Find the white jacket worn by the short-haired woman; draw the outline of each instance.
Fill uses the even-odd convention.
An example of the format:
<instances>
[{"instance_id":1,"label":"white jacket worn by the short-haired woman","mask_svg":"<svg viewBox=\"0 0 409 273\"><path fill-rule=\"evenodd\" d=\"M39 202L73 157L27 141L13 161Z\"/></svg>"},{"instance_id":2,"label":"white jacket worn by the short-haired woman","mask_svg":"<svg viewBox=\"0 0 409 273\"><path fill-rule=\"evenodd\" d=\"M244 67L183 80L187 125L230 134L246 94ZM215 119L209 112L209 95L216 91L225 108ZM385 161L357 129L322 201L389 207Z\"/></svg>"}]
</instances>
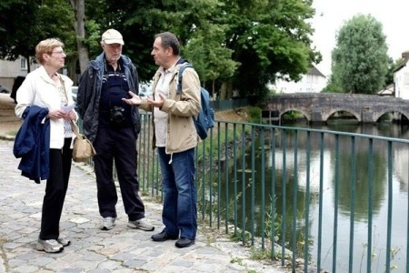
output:
<instances>
[{"instance_id":1,"label":"white jacket worn by the short-haired woman","mask_svg":"<svg viewBox=\"0 0 409 273\"><path fill-rule=\"evenodd\" d=\"M74 100L71 95L73 81L67 76L59 76L61 76L65 86L68 105L73 105ZM48 110L61 108L61 98L58 87L50 76L48 76L44 66L38 67L25 77L25 81L17 90L16 99L17 106L15 106L15 115L20 118L22 118L27 106L46 107ZM51 119L50 148L62 148L64 146L64 137L64 119Z\"/></svg>"}]
</instances>

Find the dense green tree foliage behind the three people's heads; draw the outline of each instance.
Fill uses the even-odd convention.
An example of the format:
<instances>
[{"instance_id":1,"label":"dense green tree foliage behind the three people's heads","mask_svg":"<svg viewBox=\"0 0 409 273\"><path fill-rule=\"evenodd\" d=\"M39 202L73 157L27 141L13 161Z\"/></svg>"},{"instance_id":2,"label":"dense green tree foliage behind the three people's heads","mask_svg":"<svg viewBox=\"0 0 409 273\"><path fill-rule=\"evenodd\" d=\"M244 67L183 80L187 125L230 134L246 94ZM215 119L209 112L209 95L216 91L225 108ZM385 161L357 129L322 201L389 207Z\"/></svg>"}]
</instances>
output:
<instances>
[{"instance_id":1,"label":"dense green tree foliage behind the three people's heads","mask_svg":"<svg viewBox=\"0 0 409 273\"><path fill-rule=\"evenodd\" d=\"M76 0L79 6L83 0ZM4 0L0 4L0 57L34 56L39 40L58 36L75 54L75 16L66 0ZM74 2L73 2L74 3ZM102 33L124 35L124 54L138 66L141 81L157 69L151 56L154 35L174 32L182 55L192 62L202 85L224 96L263 100L266 84L280 73L299 79L319 53L311 48L312 0L87 0L85 40L89 57L101 53ZM9 14L15 15L14 20ZM72 64L75 64L73 61ZM209 87L211 85L211 87Z\"/></svg>"}]
</instances>

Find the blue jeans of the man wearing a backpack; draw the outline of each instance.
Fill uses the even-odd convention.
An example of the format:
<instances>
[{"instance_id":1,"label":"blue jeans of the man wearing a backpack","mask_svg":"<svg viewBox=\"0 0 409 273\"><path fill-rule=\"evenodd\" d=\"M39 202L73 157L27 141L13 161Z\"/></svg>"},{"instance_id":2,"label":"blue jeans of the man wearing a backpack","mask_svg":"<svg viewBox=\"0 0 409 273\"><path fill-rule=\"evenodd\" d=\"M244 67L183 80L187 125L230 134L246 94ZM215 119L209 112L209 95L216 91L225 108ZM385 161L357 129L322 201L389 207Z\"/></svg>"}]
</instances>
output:
<instances>
[{"instance_id":1,"label":"blue jeans of the man wearing a backpack","mask_svg":"<svg viewBox=\"0 0 409 273\"><path fill-rule=\"evenodd\" d=\"M165 147L158 147L158 155L165 194L162 212L164 231L170 235L178 235L180 232L180 238L195 240L197 229L195 148L166 155Z\"/></svg>"}]
</instances>

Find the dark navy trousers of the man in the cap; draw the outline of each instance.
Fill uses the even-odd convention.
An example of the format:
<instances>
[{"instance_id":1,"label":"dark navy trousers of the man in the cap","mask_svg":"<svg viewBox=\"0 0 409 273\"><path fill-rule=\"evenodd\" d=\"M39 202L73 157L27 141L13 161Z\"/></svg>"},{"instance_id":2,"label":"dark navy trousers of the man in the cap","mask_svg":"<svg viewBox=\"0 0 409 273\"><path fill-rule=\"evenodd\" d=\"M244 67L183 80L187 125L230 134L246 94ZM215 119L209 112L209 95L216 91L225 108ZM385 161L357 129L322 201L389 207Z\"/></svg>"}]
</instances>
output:
<instances>
[{"instance_id":1,"label":"dark navy trousers of the man in the cap","mask_svg":"<svg viewBox=\"0 0 409 273\"><path fill-rule=\"evenodd\" d=\"M95 176L99 213L102 217L117 217L118 201L113 178L114 160L125 213L134 221L145 217L145 206L139 196L136 175L136 134L132 127L100 126L95 138Z\"/></svg>"}]
</instances>

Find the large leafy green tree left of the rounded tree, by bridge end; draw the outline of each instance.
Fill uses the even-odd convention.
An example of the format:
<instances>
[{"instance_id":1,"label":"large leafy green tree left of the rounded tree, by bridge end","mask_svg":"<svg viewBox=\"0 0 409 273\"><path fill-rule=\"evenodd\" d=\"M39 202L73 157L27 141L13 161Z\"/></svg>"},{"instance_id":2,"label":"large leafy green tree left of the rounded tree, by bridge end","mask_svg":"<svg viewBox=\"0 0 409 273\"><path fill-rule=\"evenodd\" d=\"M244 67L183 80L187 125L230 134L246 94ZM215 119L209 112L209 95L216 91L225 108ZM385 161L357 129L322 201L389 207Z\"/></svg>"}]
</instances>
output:
<instances>
[{"instance_id":1,"label":"large leafy green tree left of the rounded tree, by bridge end","mask_svg":"<svg viewBox=\"0 0 409 273\"><path fill-rule=\"evenodd\" d=\"M279 73L298 80L321 55L311 48L313 29L308 19L314 15L313 1L224 1L224 24L228 48L239 62L229 90L259 101L268 94L266 84Z\"/></svg>"}]
</instances>

